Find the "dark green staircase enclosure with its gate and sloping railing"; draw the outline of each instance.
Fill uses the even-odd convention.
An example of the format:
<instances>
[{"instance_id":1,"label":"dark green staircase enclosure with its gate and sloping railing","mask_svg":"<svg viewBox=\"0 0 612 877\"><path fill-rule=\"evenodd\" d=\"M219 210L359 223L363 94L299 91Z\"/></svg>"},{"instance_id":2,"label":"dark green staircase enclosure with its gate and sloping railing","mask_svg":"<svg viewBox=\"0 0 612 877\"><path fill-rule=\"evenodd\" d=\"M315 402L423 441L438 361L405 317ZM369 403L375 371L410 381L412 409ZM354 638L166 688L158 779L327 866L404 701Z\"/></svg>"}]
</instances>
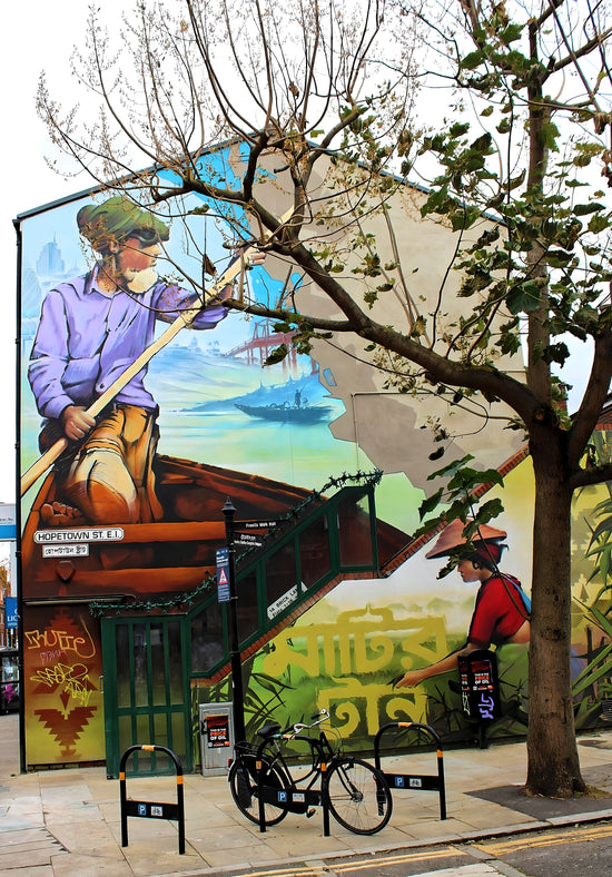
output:
<instances>
[{"instance_id":1,"label":"dark green staircase enclosure with its gate and sloping railing","mask_svg":"<svg viewBox=\"0 0 612 877\"><path fill-rule=\"evenodd\" d=\"M265 643L334 579L378 570L375 480L322 494L278 521L258 546L236 545L236 612L243 654ZM239 532L239 523L236 531ZM238 538L239 541L239 538ZM229 671L227 603L216 582L197 592L129 604L96 603L101 615L107 771L128 746L169 746L186 758L193 716L189 680ZM164 772L152 759L139 772ZM166 766L166 769L168 766Z\"/></svg>"}]
</instances>

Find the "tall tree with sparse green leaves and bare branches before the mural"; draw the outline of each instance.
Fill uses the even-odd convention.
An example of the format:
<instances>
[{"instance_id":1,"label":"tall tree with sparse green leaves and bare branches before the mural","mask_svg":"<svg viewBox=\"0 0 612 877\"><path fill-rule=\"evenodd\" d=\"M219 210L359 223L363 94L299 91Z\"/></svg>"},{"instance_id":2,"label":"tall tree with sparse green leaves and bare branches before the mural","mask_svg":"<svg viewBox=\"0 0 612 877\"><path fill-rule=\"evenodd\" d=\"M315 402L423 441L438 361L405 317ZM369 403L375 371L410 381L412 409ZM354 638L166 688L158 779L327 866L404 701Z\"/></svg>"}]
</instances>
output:
<instances>
[{"instance_id":1,"label":"tall tree with sparse green leaves and bare branches before the mural","mask_svg":"<svg viewBox=\"0 0 612 877\"><path fill-rule=\"evenodd\" d=\"M193 194L198 210L223 213L234 244L255 240L286 277L274 300L239 287L229 306L292 329L299 351L351 337L389 385L501 412L527 437L527 790L583 791L570 506L576 487L612 479L610 460L588 453L612 376L605 6L138 0L116 38L97 14L75 70L87 112L97 100L99 114L63 110L43 79L38 96L77 167L166 217ZM443 109L428 91L436 83L450 92ZM209 161L219 141L224 171ZM425 189L409 185L418 175ZM434 226L452 242L432 254L433 295L411 276L399 234L408 220L422 246ZM566 414L555 372L569 362L569 335L591 366ZM443 447L447 426L437 430ZM478 476L462 472L442 474L464 491ZM445 491L427 508L452 500ZM467 505L456 500L446 514L466 520Z\"/></svg>"}]
</instances>

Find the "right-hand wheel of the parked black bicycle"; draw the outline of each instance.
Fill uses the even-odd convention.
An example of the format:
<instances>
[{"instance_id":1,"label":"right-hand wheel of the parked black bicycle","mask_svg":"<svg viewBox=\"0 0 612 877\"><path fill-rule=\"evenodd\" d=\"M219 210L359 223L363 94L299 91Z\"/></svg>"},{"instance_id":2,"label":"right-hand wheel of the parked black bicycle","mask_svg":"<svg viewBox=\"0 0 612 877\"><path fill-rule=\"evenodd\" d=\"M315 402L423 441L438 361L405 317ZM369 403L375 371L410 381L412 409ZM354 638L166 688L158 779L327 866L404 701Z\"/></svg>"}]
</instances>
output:
<instances>
[{"instance_id":1,"label":"right-hand wheel of the parked black bicycle","mask_svg":"<svg viewBox=\"0 0 612 877\"><path fill-rule=\"evenodd\" d=\"M334 818L356 835L374 835L391 818L393 801L379 770L361 758L336 761L327 777Z\"/></svg>"}]
</instances>

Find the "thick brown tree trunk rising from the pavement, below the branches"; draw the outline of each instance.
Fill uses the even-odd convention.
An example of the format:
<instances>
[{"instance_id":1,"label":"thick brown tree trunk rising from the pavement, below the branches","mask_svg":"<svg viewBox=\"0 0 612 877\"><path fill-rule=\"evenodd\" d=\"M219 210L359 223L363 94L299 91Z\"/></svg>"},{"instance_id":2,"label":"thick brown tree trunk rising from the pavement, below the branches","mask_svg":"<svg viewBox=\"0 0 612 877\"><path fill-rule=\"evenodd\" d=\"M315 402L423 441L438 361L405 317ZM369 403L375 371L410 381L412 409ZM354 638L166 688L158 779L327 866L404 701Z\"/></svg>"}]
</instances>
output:
<instances>
[{"instance_id":1,"label":"thick brown tree trunk rising from the pavement, below the branches","mask_svg":"<svg viewBox=\"0 0 612 877\"><path fill-rule=\"evenodd\" d=\"M540 433L539 435L534 433ZM563 434L532 431L535 475L527 784L532 795L584 791L571 692L571 502Z\"/></svg>"}]
</instances>

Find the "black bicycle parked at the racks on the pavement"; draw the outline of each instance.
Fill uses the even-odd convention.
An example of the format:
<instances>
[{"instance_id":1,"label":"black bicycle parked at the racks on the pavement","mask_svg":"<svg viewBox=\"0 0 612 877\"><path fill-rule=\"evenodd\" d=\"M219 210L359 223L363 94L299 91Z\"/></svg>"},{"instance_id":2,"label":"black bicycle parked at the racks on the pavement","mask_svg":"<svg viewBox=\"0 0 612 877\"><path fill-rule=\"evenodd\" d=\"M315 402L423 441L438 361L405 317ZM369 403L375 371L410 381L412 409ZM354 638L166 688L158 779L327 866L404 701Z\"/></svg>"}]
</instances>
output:
<instances>
[{"instance_id":1,"label":"black bicycle parked at the racks on the pavement","mask_svg":"<svg viewBox=\"0 0 612 877\"><path fill-rule=\"evenodd\" d=\"M264 798L265 826L277 825L288 812L312 816L309 806L327 805L344 828L357 835L381 831L391 818L392 795L381 770L368 761L343 751L336 733L336 747L319 726L329 718L327 710L312 717L313 722L297 722L280 730L278 722L268 722L257 731L261 738L256 748L241 742L236 747L228 781L238 809L260 825L259 792ZM319 728L316 737L303 733ZM306 743L308 762L305 772L295 776L282 751L282 743ZM318 788L317 784L320 781ZM299 786L299 788L298 788ZM261 829L264 830L264 829Z\"/></svg>"}]
</instances>

